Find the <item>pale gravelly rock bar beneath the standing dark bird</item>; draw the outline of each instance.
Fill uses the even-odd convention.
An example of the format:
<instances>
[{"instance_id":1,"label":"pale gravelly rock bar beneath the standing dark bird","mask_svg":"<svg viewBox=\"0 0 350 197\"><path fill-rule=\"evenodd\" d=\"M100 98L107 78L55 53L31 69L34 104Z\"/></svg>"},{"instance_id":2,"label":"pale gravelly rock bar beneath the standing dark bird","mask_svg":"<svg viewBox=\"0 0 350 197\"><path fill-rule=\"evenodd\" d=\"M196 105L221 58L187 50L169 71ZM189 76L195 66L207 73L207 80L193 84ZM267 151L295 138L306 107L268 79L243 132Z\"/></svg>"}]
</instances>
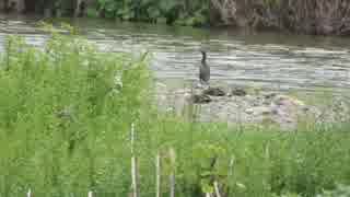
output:
<instances>
[{"instance_id":1,"label":"pale gravelly rock bar beneath the standing dark bird","mask_svg":"<svg viewBox=\"0 0 350 197\"><path fill-rule=\"evenodd\" d=\"M350 112L343 97L335 97L328 104L311 105L279 92L249 92L240 88L171 90L162 83L158 83L156 92L162 109L199 121L231 125L278 125L290 130L302 123L347 121Z\"/></svg>"}]
</instances>

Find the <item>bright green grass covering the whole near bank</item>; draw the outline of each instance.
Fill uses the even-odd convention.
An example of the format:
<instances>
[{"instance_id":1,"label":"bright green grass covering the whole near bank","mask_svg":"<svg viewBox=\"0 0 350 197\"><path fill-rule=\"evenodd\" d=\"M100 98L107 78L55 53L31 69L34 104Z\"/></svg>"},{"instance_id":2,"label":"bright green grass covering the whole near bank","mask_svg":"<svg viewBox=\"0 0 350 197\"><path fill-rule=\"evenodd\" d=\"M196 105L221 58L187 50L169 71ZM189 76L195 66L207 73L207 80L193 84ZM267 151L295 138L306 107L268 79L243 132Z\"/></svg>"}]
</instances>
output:
<instances>
[{"instance_id":1,"label":"bright green grass covering the whole near bank","mask_svg":"<svg viewBox=\"0 0 350 197\"><path fill-rule=\"evenodd\" d=\"M346 126L295 132L188 123L159 114L147 58L98 53L56 33L45 48L10 37L0 60L0 195L128 196L130 125L136 125L141 196L162 192L175 171L176 196L315 196L350 184ZM167 157L176 153L175 164Z\"/></svg>"}]
</instances>

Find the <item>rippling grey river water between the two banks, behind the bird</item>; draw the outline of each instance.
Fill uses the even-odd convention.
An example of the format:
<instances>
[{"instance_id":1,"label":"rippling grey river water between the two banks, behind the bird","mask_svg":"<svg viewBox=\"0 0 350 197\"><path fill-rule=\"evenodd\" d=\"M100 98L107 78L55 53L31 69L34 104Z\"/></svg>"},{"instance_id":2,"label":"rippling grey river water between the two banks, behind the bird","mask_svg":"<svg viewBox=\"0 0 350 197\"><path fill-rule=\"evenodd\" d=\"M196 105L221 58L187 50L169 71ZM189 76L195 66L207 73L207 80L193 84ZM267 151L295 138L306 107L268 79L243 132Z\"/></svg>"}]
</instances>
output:
<instances>
[{"instance_id":1,"label":"rippling grey river water between the two banks, behind the bird","mask_svg":"<svg viewBox=\"0 0 350 197\"><path fill-rule=\"evenodd\" d=\"M7 35L20 34L40 46L47 35L37 19L0 15L0 46ZM105 20L71 21L104 49L153 54L159 80L197 80L199 50L206 49L211 79L229 85L334 92L350 88L350 38L277 33L200 30ZM3 51L0 47L0 51Z\"/></svg>"}]
</instances>

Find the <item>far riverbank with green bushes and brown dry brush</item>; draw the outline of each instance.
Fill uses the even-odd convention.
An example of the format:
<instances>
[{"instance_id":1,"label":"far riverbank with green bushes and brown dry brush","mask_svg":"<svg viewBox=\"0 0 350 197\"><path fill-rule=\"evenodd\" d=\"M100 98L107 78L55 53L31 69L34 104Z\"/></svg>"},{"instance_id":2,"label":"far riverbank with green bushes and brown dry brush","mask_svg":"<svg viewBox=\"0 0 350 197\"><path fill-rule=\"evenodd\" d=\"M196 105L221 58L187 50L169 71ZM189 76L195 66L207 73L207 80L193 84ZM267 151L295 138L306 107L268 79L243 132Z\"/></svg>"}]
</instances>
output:
<instances>
[{"instance_id":1,"label":"far riverbank with green bushes and brown dry brush","mask_svg":"<svg viewBox=\"0 0 350 197\"><path fill-rule=\"evenodd\" d=\"M0 10L35 12L45 16L234 26L311 35L349 35L349 9L350 2L341 0L13 0L7 5L0 4Z\"/></svg>"}]
</instances>

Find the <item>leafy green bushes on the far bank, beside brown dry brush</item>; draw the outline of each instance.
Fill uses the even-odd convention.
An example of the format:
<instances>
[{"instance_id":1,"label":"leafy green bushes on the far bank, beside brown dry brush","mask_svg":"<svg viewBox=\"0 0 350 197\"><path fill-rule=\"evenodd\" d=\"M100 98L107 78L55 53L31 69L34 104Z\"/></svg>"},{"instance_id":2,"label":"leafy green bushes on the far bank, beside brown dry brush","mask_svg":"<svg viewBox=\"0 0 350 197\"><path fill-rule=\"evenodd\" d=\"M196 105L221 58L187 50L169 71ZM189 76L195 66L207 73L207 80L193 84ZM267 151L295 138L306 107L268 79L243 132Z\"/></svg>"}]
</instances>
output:
<instances>
[{"instance_id":1,"label":"leafy green bushes on the far bank, beside brown dry brush","mask_svg":"<svg viewBox=\"0 0 350 197\"><path fill-rule=\"evenodd\" d=\"M158 22L167 24L203 25L209 21L209 0L98 0L106 18L125 21Z\"/></svg>"}]
</instances>

